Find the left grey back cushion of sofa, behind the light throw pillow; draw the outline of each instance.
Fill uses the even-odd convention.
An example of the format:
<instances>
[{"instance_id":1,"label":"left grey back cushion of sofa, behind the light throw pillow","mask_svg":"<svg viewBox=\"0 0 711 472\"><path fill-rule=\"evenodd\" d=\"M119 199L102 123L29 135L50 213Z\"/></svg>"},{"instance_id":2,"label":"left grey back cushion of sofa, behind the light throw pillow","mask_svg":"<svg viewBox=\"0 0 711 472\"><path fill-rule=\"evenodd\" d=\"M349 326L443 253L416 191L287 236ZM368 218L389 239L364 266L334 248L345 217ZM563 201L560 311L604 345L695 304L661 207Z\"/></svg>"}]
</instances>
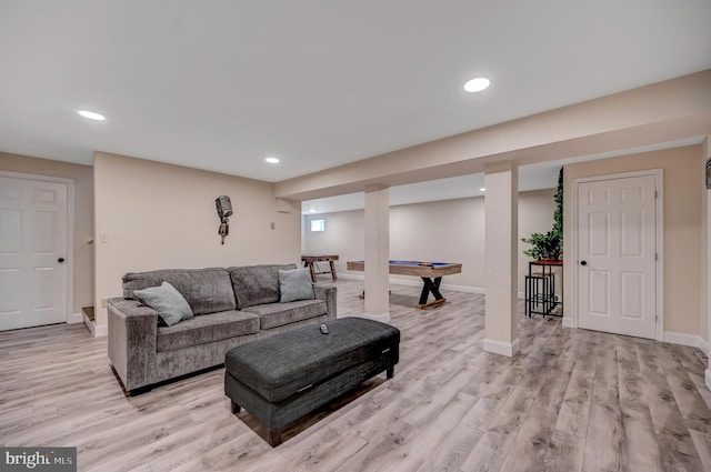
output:
<instances>
[{"instance_id":1,"label":"left grey back cushion of sofa, behind the light throw pillow","mask_svg":"<svg viewBox=\"0 0 711 472\"><path fill-rule=\"evenodd\" d=\"M123 275L123 297L168 282L186 299L194 314L234 310L237 303L227 269L166 269Z\"/></svg>"}]
</instances>

